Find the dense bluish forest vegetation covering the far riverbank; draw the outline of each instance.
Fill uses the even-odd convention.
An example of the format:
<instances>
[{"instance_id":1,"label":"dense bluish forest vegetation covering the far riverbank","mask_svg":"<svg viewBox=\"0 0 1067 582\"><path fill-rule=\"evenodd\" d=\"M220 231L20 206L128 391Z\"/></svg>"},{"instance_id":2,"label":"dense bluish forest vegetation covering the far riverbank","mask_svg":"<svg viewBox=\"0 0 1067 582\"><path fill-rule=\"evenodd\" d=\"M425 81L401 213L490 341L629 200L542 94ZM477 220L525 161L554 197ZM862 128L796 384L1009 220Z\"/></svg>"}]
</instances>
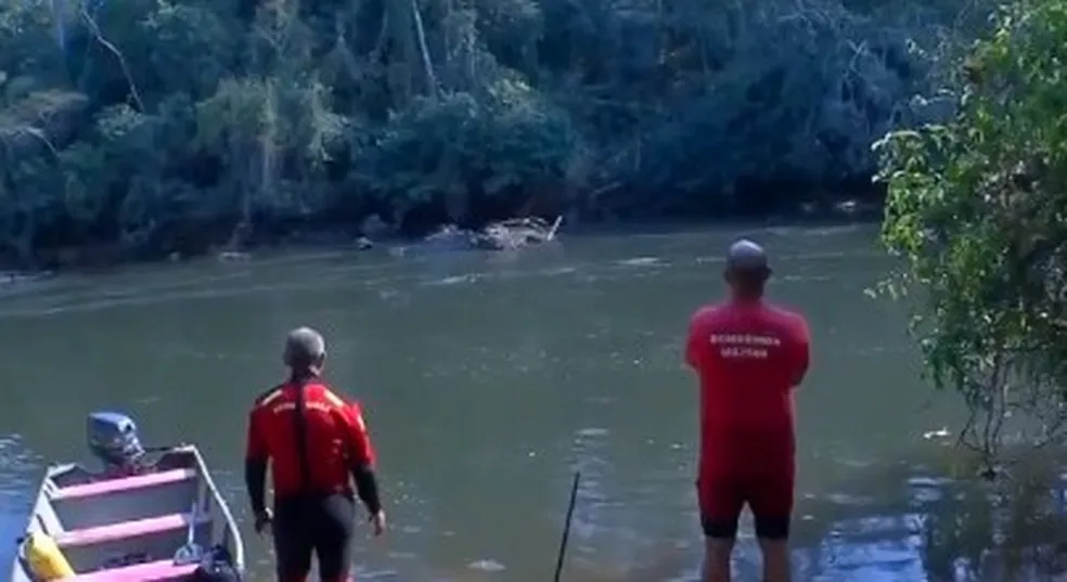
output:
<instances>
[{"instance_id":1,"label":"dense bluish forest vegetation covering the far riverbank","mask_svg":"<svg viewBox=\"0 0 1067 582\"><path fill-rule=\"evenodd\" d=\"M862 194L873 139L952 107L912 95L965 4L2 2L0 251Z\"/></svg>"}]
</instances>

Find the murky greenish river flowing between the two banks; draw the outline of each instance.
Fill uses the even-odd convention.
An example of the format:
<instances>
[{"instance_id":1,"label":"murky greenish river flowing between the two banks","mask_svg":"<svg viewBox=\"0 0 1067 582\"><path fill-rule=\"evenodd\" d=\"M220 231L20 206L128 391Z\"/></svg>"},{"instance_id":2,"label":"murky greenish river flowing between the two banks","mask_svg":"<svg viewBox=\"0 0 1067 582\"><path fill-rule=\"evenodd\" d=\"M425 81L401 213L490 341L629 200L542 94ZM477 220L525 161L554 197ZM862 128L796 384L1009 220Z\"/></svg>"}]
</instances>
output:
<instances>
[{"instance_id":1,"label":"murky greenish river flowing between the two banks","mask_svg":"<svg viewBox=\"0 0 1067 582\"><path fill-rule=\"evenodd\" d=\"M18 534L47 460L85 457L85 414L113 408L146 441L200 444L248 531L246 410L282 375L284 333L309 324L381 456L393 529L360 540L362 579L549 579L576 468L564 580L691 579L696 391L680 344L691 311L721 297L720 256L738 234L766 244L773 297L813 334L797 404L799 579L937 579L952 556L930 564L944 552L922 525L950 481L931 461L944 447L923 435L962 413L922 383L902 309L864 295L891 266L870 227L584 235L518 255L304 253L9 292L0 531ZM253 579L270 580L267 544L248 531L246 545ZM749 538L737 561L756 580Z\"/></svg>"}]
</instances>

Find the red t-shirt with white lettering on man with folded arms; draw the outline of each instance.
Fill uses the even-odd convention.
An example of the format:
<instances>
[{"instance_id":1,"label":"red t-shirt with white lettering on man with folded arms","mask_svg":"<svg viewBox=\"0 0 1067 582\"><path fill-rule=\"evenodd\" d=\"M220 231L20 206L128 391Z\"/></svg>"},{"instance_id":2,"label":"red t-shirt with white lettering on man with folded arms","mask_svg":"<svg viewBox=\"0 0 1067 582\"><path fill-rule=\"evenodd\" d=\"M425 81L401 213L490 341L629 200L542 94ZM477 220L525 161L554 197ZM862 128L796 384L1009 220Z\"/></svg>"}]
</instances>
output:
<instances>
[{"instance_id":1,"label":"red t-shirt with white lettering on man with folded arms","mask_svg":"<svg viewBox=\"0 0 1067 582\"><path fill-rule=\"evenodd\" d=\"M794 453L793 388L808 371L805 319L763 302L705 307L685 360L700 377L700 473L770 468Z\"/></svg>"}]
</instances>

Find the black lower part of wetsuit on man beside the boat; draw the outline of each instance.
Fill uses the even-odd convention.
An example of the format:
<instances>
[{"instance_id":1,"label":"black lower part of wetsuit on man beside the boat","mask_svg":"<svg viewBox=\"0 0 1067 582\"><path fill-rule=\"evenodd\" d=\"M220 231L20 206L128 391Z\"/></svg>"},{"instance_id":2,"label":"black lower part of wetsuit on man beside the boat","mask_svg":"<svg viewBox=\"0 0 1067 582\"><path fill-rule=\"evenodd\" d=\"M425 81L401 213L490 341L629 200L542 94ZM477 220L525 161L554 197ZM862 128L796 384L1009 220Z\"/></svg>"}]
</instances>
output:
<instances>
[{"instance_id":1,"label":"black lower part of wetsuit on man beside the boat","mask_svg":"<svg viewBox=\"0 0 1067 582\"><path fill-rule=\"evenodd\" d=\"M323 582L347 580L355 522L356 501L348 495L277 500L273 538L278 582L304 582L311 571L312 554L319 558Z\"/></svg>"}]
</instances>

